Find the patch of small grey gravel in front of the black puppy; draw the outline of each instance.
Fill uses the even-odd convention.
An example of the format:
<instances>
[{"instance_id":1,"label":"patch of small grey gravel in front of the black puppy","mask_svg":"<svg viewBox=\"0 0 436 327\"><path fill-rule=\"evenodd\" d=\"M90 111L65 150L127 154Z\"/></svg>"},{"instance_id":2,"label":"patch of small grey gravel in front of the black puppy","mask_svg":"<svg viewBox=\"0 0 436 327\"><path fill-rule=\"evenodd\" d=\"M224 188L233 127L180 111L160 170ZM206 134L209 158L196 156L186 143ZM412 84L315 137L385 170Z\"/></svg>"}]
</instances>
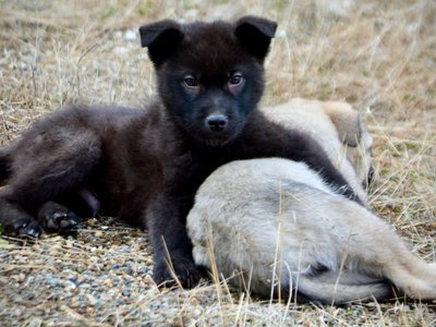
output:
<instances>
[{"instance_id":1,"label":"patch of small grey gravel in front of the black puppy","mask_svg":"<svg viewBox=\"0 0 436 327\"><path fill-rule=\"evenodd\" d=\"M150 277L147 234L112 221L96 222L86 222L75 238L1 239L2 324L179 325L181 317L198 319L214 303L213 288L201 294L159 291Z\"/></svg>"}]
</instances>

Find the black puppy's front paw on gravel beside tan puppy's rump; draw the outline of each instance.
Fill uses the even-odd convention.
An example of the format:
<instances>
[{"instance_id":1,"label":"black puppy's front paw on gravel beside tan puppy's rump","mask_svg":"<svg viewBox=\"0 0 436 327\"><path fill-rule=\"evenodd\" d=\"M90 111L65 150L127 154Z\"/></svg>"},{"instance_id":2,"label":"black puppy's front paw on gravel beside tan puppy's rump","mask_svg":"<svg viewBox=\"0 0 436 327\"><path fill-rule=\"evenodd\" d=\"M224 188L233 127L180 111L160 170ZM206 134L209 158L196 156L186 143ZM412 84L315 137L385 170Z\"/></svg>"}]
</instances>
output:
<instances>
[{"instance_id":1,"label":"black puppy's front paw on gravel beside tan puppy's rump","mask_svg":"<svg viewBox=\"0 0 436 327\"><path fill-rule=\"evenodd\" d=\"M199 272L192 259L179 256L173 257L170 264L165 259L158 261L153 277L160 288L181 284L190 289L198 283Z\"/></svg>"}]
</instances>

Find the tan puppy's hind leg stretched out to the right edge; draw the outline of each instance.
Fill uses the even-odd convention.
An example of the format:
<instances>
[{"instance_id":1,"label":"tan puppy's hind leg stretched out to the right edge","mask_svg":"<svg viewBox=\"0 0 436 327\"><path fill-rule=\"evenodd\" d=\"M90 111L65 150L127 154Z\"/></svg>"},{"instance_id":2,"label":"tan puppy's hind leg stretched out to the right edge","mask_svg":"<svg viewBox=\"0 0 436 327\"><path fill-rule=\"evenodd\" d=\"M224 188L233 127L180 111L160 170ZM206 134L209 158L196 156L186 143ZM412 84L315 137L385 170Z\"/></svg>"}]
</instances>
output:
<instances>
[{"instance_id":1,"label":"tan puppy's hind leg stretched out to the right edge","mask_svg":"<svg viewBox=\"0 0 436 327\"><path fill-rule=\"evenodd\" d=\"M436 299L436 266L415 256L401 238L378 217L349 202L354 213L348 257L362 271L389 279L407 295L422 300Z\"/></svg>"}]
</instances>

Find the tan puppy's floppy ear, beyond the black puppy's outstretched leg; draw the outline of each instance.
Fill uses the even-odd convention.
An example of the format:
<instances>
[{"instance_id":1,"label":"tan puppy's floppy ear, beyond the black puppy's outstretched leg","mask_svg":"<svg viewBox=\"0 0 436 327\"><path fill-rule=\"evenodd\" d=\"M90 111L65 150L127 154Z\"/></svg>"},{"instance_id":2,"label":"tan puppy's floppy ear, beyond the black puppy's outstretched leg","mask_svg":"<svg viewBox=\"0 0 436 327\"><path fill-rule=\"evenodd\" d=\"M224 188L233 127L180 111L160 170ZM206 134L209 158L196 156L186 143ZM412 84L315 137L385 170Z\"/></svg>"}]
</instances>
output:
<instances>
[{"instance_id":1,"label":"tan puppy's floppy ear, beyond the black puppy's outstretched leg","mask_svg":"<svg viewBox=\"0 0 436 327\"><path fill-rule=\"evenodd\" d=\"M362 140L362 119L358 110L346 102L325 102L326 113L338 130L342 143L356 147Z\"/></svg>"}]
</instances>

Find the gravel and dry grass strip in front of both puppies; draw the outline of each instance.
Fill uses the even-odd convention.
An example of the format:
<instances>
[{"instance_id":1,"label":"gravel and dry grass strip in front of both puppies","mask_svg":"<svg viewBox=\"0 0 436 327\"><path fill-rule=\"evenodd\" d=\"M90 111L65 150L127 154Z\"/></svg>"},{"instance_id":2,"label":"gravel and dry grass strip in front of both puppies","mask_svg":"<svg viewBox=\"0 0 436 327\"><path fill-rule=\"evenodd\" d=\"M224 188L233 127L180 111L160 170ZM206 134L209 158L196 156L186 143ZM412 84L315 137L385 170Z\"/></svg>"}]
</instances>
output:
<instances>
[{"instance_id":1,"label":"gravel and dry grass strip in front of both puppies","mask_svg":"<svg viewBox=\"0 0 436 327\"><path fill-rule=\"evenodd\" d=\"M146 232L111 219L85 221L74 237L2 237L0 325L324 326L346 324L347 318L371 325L386 313L390 323L393 314L402 325L423 311L428 318L436 308L403 302L343 307L278 303L208 280L193 290L159 290L152 279L150 254Z\"/></svg>"}]
</instances>

